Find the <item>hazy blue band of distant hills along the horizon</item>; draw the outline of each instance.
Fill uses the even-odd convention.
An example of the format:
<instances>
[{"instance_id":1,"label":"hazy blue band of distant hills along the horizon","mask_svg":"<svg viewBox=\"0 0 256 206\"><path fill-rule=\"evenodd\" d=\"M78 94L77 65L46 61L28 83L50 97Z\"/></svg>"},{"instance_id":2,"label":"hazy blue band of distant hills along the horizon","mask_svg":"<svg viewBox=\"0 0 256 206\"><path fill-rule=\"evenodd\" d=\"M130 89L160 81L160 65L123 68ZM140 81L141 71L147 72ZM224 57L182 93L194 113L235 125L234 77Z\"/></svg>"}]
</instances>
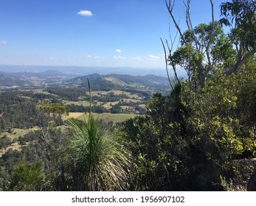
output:
<instances>
[{"instance_id":1,"label":"hazy blue band of distant hills along the horizon","mask_svg":"<svg viewBox=\"0 0 256 206\"><path fill-rule=\"evenodd\" d=\"M147 74L148 70L142 69L146 75L120 74L128 71L134 71L134 68L120 68L119 74L108 74L109 71L117 71L117 68L97 68L97 71L104 71L103 74L92 73L86 75L77 75L68 71L73 67L35 67L38 71L30 71L32 66L11 66L0 65L0 90L5 89L31 89L46 87L87 87L87 78L90 80L93 90L111 90L111 89L153 89L163 90L168 87L167 77L161 75ZM55 70L60 69L60 70ZM19 70L20 69L20 70ZM28 69L26 71L26 69ZM76 71L82 68L75 67ZM89 69L89 68L88 68ZM86 72L91 72L87 70ZM141 73L139 72L139 74ZM107 73L107 74L104 74Z\"/></svg>"}]
</instances>

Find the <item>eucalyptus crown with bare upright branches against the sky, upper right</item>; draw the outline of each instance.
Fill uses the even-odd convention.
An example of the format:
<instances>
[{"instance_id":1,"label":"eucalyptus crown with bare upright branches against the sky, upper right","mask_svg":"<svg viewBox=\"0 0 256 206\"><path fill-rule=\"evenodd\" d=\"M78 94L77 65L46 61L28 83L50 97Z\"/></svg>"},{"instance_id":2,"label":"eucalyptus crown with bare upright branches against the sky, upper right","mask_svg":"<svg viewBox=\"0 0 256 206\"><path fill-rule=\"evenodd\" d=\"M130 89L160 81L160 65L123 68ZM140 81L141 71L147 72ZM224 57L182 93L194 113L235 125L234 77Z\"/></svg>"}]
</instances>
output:
<instances>
[{"instance_id":1,"label":"eucalyptus crown with bare upright branches against the sky, upper right","mask_svg":"<svg viewBox=\"0 0 256 206\"><path fill-rule=\"evenodd\" d=\"M232 21L235 20L235 28L231 30L230 35L226 35L218 21L215 21L212 0L210 0L212 21L210 24L199 24L195 27L192 26L190 17L190 0L187 0L185 32L181 31L173 15L174 1L165 0L181 43L176 51L173 51L172 39L171 46L167 43L169 55L166 62L173 68L175 74L176 66L184 68L194 90L198 86L203 88L205 79L214 74L216 68L222 75L230 75L255 54L255 2L249 1L248 4L246 2L234 0L232 3L221 4L224 18L220 22L231 25L230 15ZM246 38L248 36L249 38ZM233 49L234 45L235 49ZM165 47L164 43L163 46Z\"/></svg>"}]
</instances>

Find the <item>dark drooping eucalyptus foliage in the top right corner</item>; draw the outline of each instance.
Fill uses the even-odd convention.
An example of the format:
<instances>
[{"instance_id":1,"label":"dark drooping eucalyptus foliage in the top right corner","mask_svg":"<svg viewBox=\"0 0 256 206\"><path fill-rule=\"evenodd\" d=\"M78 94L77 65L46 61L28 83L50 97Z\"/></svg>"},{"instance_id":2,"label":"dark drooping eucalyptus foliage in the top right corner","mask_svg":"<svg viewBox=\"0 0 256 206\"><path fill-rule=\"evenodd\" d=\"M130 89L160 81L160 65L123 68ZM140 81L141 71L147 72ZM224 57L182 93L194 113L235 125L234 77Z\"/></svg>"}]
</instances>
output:
<instances>
[{"instance_id":1,"label":"dark drooping eucalyptus foliage in the top right corner","mask_svg":"<svg viewBox=\"0 0 256 206\"><path fill-rule=\"evenodd\" d=\"M256 52L256 2L252 0L232 0L221 4L220 23L232 26L229 37L235 44L237 60L231 68L225 71L226 75L232 74L249 57Z\"/></svg>"}]
</instances>

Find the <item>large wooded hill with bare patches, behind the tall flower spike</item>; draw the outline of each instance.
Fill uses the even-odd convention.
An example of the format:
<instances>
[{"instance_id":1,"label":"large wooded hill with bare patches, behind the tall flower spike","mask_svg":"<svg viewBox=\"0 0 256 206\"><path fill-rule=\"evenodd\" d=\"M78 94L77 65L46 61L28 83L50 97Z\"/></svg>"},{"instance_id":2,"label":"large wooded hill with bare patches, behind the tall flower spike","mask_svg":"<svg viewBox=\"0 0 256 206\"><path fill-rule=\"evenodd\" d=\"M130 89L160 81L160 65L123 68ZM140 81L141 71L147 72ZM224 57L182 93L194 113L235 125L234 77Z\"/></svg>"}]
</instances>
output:
<instances>
[{"instance_id":1,"label":"large wooded hill with bare patches, behind the tall flower spike","mask_svg":"<svg viewBox=\"0 0 256 206\"><path fill-rule=\"evenodd\" d=\"M65 85L87 85L89 79L92 89L108 90L114 88L167 88L167 77L159 77L153 74L145 76L131 76L127 74L90 74L65 81Z\"/></svg>"}]
</instances>

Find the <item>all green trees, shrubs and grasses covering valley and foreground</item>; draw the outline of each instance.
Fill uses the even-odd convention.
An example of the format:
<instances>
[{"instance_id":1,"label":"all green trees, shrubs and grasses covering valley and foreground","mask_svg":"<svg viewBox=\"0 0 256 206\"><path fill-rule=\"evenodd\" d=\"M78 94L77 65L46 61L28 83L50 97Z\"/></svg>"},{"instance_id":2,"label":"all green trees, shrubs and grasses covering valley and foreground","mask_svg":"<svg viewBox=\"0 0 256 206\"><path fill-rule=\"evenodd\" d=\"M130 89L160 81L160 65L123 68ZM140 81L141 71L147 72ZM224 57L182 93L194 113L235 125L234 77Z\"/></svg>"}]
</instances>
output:
<instances>
[{"instance_id":1,"label":"all green trees, shrubs and grasses covering valley and foreground","mask_svg":"<svg viewBox=\"0 0 256 206\"><path fill-rule=\"evenodd\" d=\"M162 41L174 74L167 92L126 87L131 77L120 91L108 81L117 79L97 75L92 87L107 82L105 90L89 85L89 94L86 77L73 79L77 88L0 93L0 191L243 191L248 180L255 188L255 1L226 1L220 21L193 27L188 0L184 32L165 2L180 36L176 51ZM83 118L63 121L68 112ZM96 118L111 113L132 118ZM30 130L13 138L14 128ZM14 142L19 150L7 149Z\"/></svg>"}]
</instances>

